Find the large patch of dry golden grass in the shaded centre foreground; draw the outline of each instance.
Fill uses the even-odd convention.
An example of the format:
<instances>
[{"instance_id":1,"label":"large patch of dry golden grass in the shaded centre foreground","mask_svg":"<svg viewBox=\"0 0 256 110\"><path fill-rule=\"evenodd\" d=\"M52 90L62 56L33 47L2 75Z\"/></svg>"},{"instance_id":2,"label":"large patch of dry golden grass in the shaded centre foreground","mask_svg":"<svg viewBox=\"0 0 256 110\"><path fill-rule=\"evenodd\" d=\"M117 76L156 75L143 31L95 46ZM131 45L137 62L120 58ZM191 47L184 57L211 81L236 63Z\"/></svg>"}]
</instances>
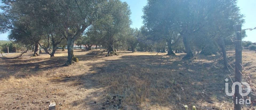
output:
<instances>
[{"instance_id":1,"label":"large patch of dry golden grass in the shaded centre foreground","mask_svg":"<svg viewBox=\"0 0 256 110\"><path fill-rule=\"evenodd\" d=\"M179 103L190 104L200 98L197 91L191 91L197 89L191 86L193 79L174 69L130 65L99 76L99 85L106 86L108 93L124 96L123 103L137 105L137 109L183 109Z\"/></svg>"}]
</instances>

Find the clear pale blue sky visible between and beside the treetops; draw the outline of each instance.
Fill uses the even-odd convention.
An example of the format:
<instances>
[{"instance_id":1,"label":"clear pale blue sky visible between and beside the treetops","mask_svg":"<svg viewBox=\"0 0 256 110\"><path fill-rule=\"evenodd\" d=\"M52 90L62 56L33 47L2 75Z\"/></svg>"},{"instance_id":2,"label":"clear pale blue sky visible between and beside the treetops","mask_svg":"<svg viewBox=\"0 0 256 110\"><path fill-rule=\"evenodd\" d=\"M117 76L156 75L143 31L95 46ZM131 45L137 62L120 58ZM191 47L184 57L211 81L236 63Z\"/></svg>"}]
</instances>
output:
<instances>
[{"instance_id":1,"label":"clear pale blue sky visible between and beside the treetops","mask_svg":"<svg viewBox=\"0 0 256 110\"><path fill-rule=\"evenodd\" d=\"M133 24L131 25L132 28L140 28L142 23L141 16L143 15L142 8L147 4L147 0L121 0L127 2L130 5L131 9L131 20ZM245 24L243 25L242 29L246 28L254 28L256 27L256 0L238 0L238 6L241 9L241 13L245 15ZM246 37L245 41L252 41L256 42L256 30L246 31L248 37ZM0 40L7 40L8 34L0 34Z\"/></svg>"}]
</instances>

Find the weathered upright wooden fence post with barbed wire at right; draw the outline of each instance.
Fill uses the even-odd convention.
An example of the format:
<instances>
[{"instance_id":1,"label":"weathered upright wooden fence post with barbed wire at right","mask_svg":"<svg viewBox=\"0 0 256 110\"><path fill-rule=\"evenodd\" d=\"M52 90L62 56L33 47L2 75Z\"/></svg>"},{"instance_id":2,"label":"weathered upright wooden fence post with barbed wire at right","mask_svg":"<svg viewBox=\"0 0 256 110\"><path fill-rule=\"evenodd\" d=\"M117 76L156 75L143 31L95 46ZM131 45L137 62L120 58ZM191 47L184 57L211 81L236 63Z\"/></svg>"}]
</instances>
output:
<instances>
[{"instance_id":1,"label":"weathered upright wooden fence post with barbed wire at right","mask_svg":"<svg viewBox=\"0 0 256 110\"><path fill-rule=\"evenodd\" d=\"M240 82L242 80L242 25L235 26L235 82ZM235 110L241 110L242 104L239 104L239 99L242 96L239 94L239 86L235 86ZM237 102L236 102L237 100Z\"/></svg>"}]
</instances>

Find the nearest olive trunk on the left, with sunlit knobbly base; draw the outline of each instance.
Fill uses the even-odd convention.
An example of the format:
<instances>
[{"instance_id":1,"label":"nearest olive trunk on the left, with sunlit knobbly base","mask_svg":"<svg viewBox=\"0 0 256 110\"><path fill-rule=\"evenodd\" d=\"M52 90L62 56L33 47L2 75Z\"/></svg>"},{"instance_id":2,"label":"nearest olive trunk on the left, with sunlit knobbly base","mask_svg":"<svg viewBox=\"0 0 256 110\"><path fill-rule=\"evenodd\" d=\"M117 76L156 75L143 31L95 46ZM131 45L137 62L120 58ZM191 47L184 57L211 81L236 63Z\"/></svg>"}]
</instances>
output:
<instances>
[{"instance_id":1,"label":"nearest olive trunk on the left, with sunlit knobbly base","mask_svg":"<svg viewBox=\"0 0 256 110\"><path fill-rule=\"evenodd\" d=\"M65 65L71 65L74 63L74 39L67 40L67 61Z\"/></svg>"}]
</instances>

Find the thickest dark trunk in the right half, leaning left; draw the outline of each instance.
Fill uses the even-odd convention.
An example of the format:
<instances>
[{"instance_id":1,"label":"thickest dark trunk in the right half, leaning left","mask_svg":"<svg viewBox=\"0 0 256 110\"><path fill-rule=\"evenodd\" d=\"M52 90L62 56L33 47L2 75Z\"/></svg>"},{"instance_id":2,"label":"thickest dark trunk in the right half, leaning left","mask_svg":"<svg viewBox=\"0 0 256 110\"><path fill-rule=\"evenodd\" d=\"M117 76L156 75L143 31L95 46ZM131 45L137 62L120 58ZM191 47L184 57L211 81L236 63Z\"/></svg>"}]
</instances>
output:
<instances>
[{"instance_id":1,"label":"thickest dark trunk in the right half, leaning left","mask_svg":"<svg viewBox=\"0 0 256 110\"><path fill-rule=\"evenodd\" d=\"M186 52L187 52L187 55L184 56L182 59L192 59L194 58L194 55L193 55L193 52L190 48L190 44L189 44L189 41L187 39L186 36L182 36L183 37L183 43L184 43L184 46L185 46L185 49L186 49Z\"/></svg>"}]
</instances>

